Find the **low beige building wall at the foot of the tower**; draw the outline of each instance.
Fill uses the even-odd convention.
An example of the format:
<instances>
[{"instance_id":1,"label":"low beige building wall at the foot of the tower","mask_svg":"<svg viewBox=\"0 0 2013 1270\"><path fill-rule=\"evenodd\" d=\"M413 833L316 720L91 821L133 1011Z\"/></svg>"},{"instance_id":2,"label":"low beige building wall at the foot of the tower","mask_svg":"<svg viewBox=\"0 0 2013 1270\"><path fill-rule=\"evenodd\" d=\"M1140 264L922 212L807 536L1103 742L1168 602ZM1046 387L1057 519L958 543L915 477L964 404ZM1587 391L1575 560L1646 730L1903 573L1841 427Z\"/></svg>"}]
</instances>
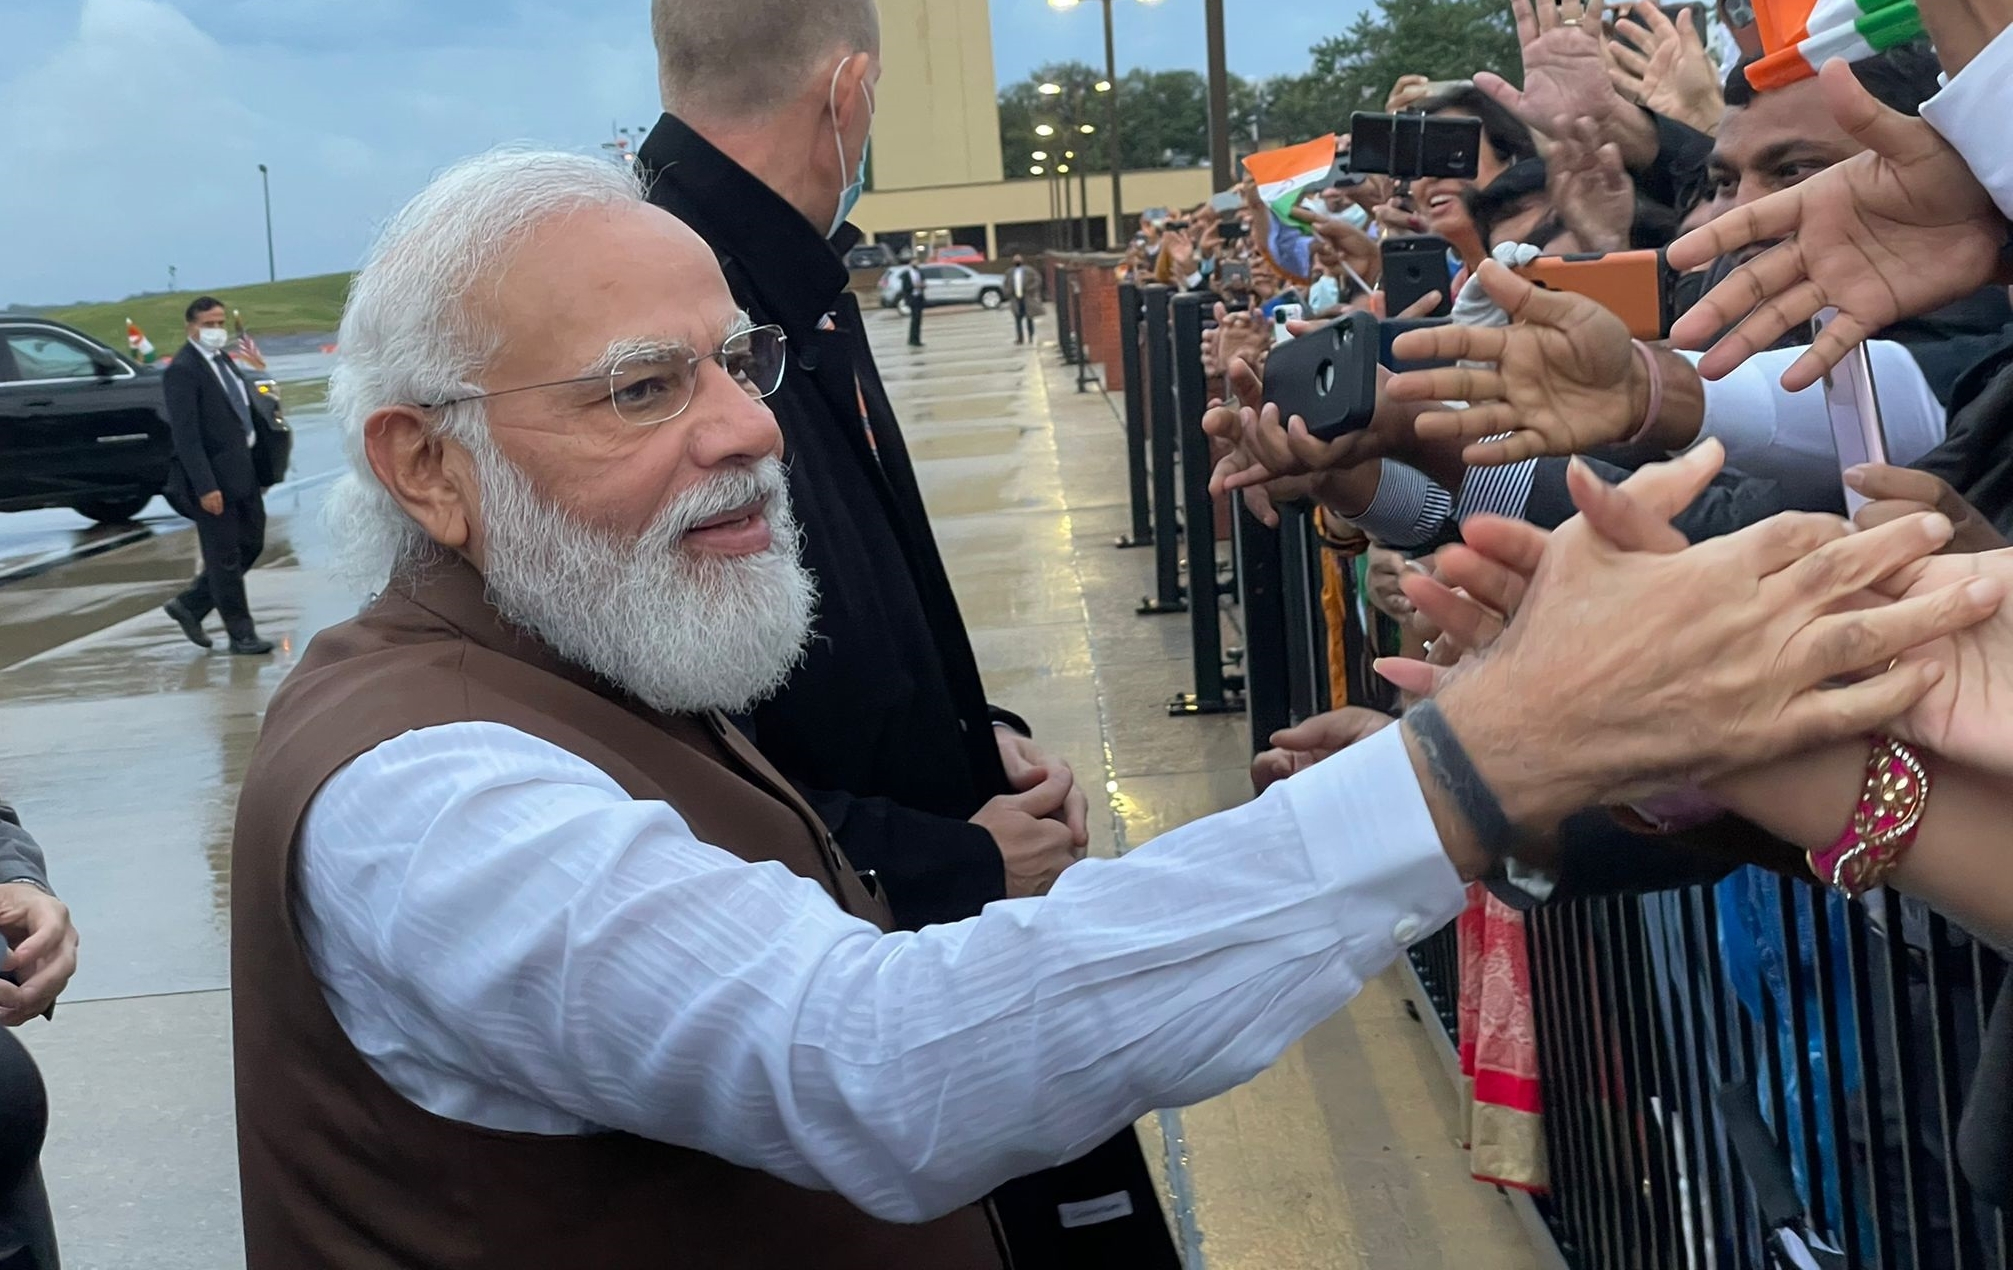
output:
<instances>
[{"instance_id":1,"label":"low beige building wall at the foot of the tower","mask_svg":"<svg viewBox=\"0 0 2013 1270\"><path fill-rule=\"evenodd\" d=\"M996 149L996 147L994 147ZM1111 225L1111 175L1093 171L1091 217ZM1214 193L1208 167L1174 167L1123 173L1125 211L1147 207L1196 207ZM996 225L1045 221L1051 215L1049 181L988 181L982 185L934 185L924 189L874 191L860 199L851 221L872 240L876 233L910 229L986 227L986 256L998 256ZM1083 185L1071 175L1071 203ZM1115 225L1105 242L1117 242Z\"/></svg>"}]
</instances>

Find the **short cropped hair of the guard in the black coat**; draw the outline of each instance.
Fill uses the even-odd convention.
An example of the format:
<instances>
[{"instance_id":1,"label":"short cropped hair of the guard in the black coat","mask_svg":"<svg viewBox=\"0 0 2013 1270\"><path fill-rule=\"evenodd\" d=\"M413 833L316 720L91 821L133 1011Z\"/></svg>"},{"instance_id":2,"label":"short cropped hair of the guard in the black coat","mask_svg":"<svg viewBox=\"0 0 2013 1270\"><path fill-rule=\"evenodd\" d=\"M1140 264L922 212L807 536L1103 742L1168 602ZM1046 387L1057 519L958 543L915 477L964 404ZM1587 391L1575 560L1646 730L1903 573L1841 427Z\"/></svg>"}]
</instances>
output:
<instances>
[{"instance_id":1,"label":"short cropped hair of the guard in the black coat","mask_svg":"<svg viewBox=\"0 0 2013 1270\"><path fill-rule=\"evenodd\" d=\"M874 0L652 0L664 109L765 119L833 52L880 52Z\"/></svg>"}]
</instances>

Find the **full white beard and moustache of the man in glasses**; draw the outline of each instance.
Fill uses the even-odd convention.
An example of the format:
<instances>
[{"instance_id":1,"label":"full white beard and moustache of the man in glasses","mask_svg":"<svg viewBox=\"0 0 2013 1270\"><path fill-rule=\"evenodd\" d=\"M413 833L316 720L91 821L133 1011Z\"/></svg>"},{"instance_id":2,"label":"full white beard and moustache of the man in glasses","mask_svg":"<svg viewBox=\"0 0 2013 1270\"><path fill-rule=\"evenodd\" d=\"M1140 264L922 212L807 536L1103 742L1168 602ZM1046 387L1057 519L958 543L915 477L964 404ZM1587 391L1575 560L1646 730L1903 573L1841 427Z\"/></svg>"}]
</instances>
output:
<instances>
[{"instance_id":1,"label":"full white beard and moustache of the man in glasses","mask_svg":"<svg viewBox=\"0 0 2013 1270\"><path fill-rule=\"evenodd\" d=\"M803 660L817 584L797 558L779 459L694 485L636 541L539 497L495 447L475 461L489 602L566 660L670 715L747 710ZM761 497L775 535L767 551L684 549L686 529Z\"/></svg>"}]
</instances>

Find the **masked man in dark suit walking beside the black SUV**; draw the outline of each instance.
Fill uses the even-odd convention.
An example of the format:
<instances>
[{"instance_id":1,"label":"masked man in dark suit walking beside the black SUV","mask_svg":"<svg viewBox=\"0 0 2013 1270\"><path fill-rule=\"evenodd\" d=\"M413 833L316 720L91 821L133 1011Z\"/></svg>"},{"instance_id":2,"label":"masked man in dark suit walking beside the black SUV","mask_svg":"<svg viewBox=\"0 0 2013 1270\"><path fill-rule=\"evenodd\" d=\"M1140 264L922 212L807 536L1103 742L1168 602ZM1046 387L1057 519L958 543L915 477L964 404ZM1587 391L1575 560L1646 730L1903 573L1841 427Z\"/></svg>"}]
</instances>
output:
<instances>
[{"instance_id":1,"label":"masked man in dark suit walking beside the black SUV","mask_svg":"<svg viewBox=\"0 0 2013 1270\"><path fill-rule=\"evenodd\" d=\"M252 451L258 427L252 388L229 354L221 300L203 296L189 304L189 342L167 366L167 427L175 459L167 469L167 501L195 521L203 572L189 590L167 602L167 616L189 642L209 648L203 620L223 618L231 652L260 656L272 644L258 638L246 600L246 572L266 549L266 495L260 491Z\"/></svg>"}]
</instances>

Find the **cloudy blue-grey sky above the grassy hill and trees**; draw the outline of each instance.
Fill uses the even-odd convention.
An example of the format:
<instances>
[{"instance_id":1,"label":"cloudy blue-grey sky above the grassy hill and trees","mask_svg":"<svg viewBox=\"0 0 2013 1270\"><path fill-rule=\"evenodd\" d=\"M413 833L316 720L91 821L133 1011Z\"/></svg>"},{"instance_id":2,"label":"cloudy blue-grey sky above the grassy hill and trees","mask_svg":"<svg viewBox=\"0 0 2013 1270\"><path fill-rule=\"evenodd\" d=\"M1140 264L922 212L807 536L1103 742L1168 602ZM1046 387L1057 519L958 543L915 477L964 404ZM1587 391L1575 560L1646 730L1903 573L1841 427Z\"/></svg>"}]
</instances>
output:
<instances>
[{"instance_id":1,"label":"cloudy blue-grey sky above the grassy hill and trees","mask_svg":"<svg viewBox=\"0 0 2013 1270\"><path fill-rule=\"evenodd\" d=\"M805 0L815 4L817 0ZM1228 0L1230 66L1300 70L1361 0ZM656 117L646 0L0 0L0 306L354 266L443 163ZM1262 30L1258 24L1262 22ZM992 0L1002 83L1103 58L1097 4ZM1121 68L1202 68L1202 0L1119 0Z\"/></svg>"}]
</instances>

